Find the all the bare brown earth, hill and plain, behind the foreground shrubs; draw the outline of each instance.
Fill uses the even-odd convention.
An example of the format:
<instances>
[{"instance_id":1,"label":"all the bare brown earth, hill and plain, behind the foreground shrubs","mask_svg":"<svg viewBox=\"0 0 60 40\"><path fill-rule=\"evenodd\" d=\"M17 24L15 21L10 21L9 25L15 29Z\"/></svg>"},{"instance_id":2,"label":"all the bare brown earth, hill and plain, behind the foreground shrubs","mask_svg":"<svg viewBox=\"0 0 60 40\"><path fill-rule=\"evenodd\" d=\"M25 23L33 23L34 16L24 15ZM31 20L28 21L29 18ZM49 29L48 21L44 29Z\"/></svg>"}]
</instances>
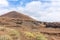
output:
<instances>
[{"instance_id":1,"label":"all the bare brown earth, hill and plain, behind the foreground shrubs","mask_svg":"<svg viewBox=\"0 0 60 40\"><path fill-rule=\"evenodd\" d=\"M26 16L16 11L12 11L4 15L1 15L0 26L14 28L19 30L20 32L38 31L44 34L48 38L48 40L60 40L60 28L57 28L57 26L60 27L60 23L47 23L36 21L35 19L30 18L29 16Z\"/></svg>"}]
</instances>

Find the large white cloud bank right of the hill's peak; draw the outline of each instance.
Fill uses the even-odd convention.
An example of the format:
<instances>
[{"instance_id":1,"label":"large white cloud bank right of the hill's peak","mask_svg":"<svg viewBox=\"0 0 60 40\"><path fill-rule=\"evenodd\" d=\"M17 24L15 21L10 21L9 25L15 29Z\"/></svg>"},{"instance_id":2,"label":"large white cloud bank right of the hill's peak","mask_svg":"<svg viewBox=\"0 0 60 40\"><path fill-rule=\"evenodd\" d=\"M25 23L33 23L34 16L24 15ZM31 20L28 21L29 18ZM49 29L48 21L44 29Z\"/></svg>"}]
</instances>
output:
<instances>
[{"instance_id":1,"label":"large white cloud bank right of the hill's peak","mask_svg":"<svg viewBox=\"0 0 60 40\"><path fill-rule=\"evenodd\" d=\"M40 1L32 1L26 4L22 13L26 13L39 21L60 21L60 1L49 1L51 2L44 4Z\"/></svg>"}]
</instances>

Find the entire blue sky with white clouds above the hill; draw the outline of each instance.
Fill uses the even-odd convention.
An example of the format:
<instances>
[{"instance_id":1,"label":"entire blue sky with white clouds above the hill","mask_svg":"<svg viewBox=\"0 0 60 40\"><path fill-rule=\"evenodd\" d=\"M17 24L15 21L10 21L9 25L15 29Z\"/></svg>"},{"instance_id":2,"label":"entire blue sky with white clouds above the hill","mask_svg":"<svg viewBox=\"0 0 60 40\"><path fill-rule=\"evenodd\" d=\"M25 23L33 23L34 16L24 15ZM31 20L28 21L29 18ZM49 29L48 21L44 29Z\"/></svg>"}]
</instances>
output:
<instances>
[{"instance_id":1,"label":"entire blue sky with white clouds above the hill","mask_svg":"<svg viewBox=\"0 0 60 40\"><path fill-rule=\"evenodd\" d=\"M60 22L60 0L0 0L0 15L18 11L38 21Z\"/></svg>"}]
</instances>

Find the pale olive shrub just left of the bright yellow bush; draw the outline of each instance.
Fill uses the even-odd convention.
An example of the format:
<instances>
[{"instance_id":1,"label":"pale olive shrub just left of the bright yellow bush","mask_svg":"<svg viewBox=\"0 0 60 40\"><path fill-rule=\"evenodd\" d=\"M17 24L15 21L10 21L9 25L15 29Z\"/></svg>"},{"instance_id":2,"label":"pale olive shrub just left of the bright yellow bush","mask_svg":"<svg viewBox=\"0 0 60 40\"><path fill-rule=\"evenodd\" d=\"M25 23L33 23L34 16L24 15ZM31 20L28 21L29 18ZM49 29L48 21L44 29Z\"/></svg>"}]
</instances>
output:
<instances>
[{"instance_id":1,"label":"pale olive shrub just left of the bright yellow bush","mask_svg":"<svg viewBox=\"0 0 60 40\"><path fill-rule=\"evenodd\" d=\"M7 29L7 34L13 38L13 40L20 40L20 33L15 29Z\"/></svg>"}]
</instances>

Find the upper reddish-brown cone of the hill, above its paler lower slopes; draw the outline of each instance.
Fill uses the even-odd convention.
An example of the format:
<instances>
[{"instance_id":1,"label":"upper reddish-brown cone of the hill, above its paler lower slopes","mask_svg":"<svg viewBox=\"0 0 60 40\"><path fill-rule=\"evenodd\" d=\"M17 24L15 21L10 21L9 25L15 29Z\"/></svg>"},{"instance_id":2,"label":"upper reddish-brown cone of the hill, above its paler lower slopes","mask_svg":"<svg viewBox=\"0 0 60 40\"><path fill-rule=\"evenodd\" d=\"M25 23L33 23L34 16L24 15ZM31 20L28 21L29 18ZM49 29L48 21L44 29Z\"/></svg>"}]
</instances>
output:
<instances>
[{"instance_id":1,"label":"upper reddish-brown cone of the hill, above its paler lower slopes","mask_svg":"<svg viewBox=\"0 0 60 40\"><path fill-rule=\"evenodd\" d=\"M27 15L24 15L24 14L21 14L19 12L16 12L16 11L11 11L11 12L8 12L8 13L5 13L4 15L1 15L1 17L9 17L9 18L20 18L20 19L29 19L29 20L33 20L33 18L27 16Z\"/></svg>"}]
</instances>

